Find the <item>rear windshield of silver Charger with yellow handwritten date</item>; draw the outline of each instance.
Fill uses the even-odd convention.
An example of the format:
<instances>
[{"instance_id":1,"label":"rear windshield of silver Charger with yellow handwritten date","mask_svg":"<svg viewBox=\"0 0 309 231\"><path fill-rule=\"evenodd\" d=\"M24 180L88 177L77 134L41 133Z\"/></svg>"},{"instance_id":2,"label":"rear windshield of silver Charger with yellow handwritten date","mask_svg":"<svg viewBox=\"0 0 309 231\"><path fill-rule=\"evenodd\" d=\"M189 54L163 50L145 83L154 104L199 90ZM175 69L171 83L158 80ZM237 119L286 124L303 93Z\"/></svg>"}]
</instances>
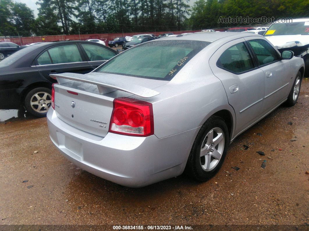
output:
<instances>
[{"instance_id":1,"label":"rear windshield of silver Charger with yellow handwritten date","mask_svg":"<svg viewBox=\"0 0 309 231\"><path fill-rule=\"evenodd\" d=\"M171 80L193 56L209 44L193 40L142 43L107 61L98 72Z\"/></svg>"}]
</instances>

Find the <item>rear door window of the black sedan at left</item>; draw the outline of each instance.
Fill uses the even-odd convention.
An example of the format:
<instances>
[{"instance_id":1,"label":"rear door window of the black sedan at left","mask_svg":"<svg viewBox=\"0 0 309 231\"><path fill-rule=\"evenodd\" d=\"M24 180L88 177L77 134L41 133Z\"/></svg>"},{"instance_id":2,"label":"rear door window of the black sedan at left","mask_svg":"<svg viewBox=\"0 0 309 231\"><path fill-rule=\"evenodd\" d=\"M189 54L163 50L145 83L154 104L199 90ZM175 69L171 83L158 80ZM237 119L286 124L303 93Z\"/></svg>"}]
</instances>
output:
<instances>
[{"instance_id":1,"label":"rear door window of the black sedan at left","mask_svg":"<svg viewBox=\"0 0 309 231\"><path fill-rule=\"evenodd\" d=\"M62 45L48 50L53 64L82 62L82 57L75 44Z\"/></svg>"}]
</instances>

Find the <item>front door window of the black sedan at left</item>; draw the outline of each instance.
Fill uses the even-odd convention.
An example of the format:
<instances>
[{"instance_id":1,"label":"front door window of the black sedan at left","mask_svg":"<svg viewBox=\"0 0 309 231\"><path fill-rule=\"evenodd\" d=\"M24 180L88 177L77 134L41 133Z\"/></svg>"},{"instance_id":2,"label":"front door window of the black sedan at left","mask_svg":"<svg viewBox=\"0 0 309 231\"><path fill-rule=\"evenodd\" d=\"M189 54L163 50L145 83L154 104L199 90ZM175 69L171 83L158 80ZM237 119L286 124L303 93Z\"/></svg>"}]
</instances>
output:
<instances>
[{"instance_id":1,"label":"front door window of the black sedan at left","mask_svg":"<svg viewBox=\"0 0 309 231\"><path fill-rule=\"evenodd\" d=\"M92 44L82 44L90 61L109 60L116 54L104 47Z\"/></svg>"}]
</instances>

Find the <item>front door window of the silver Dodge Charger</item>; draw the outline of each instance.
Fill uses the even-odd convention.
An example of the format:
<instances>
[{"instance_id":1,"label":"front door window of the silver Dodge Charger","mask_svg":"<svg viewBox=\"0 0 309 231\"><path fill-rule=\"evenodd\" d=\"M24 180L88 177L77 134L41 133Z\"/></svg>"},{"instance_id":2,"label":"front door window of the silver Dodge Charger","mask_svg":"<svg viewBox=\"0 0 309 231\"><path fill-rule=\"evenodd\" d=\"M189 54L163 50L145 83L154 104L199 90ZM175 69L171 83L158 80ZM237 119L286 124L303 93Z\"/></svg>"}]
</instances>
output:
<instances>
[{"instance_id":1,"label":"front door window of the silver Dodge Charger","mask_svg":"<svg viewBox=\"0 0 309 231\"><path fill-rule=\"evenodd\" d=\"M276 50L267 41L253 39L249 40L248 43L256 54L259 66L279 60Z\"/></svg>"}]
</instances>

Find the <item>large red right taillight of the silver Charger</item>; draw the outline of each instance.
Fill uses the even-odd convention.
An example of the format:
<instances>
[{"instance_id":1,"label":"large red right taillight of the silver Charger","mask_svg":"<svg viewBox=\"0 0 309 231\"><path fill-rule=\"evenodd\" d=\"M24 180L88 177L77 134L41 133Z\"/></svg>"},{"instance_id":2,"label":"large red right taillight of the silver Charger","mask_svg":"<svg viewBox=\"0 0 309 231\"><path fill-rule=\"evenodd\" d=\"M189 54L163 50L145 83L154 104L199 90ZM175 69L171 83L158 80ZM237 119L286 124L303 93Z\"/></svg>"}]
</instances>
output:
<instances>
[{"instance_id":1,"label":"large red right taillight of the silver Charger","mask_svg":"<svg viewBox=\"0 0 309 231\"><path fill-rule=\"evenodd\" d=\"M130 136L153 135L152 104L132 98L114 99L109 132Z\"/></svg>"}]
</instances>

